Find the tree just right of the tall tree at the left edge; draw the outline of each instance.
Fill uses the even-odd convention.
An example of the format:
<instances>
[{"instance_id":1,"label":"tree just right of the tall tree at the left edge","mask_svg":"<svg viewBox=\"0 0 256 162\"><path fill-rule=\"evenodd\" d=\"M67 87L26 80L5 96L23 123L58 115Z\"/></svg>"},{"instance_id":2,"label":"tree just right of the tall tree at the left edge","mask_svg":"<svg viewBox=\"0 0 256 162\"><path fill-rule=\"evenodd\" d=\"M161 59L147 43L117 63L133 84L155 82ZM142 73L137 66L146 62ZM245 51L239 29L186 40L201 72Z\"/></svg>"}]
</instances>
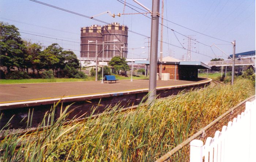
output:
<instances>
[{"instance_id":1,"label":"tree just right of the tall tree at the left edge","mask_svg":"<svg viewBox=\"0 0 256 162\"><path fill-rule=\"evenodd\" d=\"M40 53L42 46L36 43L26 42L26 53L25 53L25 67L27 72L29 68L33 70L33 74L35 73L35 69L39 73L39 70L42 69L41 60L40 60Z\"/></svg>"}]
</instances>

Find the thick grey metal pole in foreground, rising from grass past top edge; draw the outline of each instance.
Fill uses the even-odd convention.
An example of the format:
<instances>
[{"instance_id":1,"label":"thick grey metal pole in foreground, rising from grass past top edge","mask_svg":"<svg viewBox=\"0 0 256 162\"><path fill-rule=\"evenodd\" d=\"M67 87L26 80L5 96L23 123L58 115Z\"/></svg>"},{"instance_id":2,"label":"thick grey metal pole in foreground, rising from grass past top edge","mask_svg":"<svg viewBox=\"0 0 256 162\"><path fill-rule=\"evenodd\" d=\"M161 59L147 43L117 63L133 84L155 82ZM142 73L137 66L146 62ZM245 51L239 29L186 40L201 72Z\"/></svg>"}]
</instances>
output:
<instances>
[{"instance_id":1,"label":"thick grey metal pole in foreground, rising from grass past top edge","mask_svg":"<svg viewBox=\"0 0 256 162\"><path fill-rule=\"evenodd\" d=\"M149 75L149 101L154 101L157 94L157 51L158 51L158 26L159 26L160 0L152 0L151 12L151 42L150 42L150 75Z\"/></svg>"}]
</instances>

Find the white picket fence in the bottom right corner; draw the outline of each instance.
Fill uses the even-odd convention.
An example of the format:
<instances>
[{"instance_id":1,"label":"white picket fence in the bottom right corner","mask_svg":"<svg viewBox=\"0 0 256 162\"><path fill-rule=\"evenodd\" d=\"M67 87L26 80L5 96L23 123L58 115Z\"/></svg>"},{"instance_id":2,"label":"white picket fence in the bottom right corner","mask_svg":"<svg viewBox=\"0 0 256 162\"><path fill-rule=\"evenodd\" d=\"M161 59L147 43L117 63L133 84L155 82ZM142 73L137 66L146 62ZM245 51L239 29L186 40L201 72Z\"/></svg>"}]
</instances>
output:
<instances>
[{"instance_id":1,"label":"white picket fence in the bottom right corner","mask_svg":"<svg viewBox=\"0 0 256 162\"><path fill-rule=\"evenodd\" d=\"M190 142L190 162L256 162L256 102L245 103L245 111L214 138Z\"/></svg>"}]
</instances>

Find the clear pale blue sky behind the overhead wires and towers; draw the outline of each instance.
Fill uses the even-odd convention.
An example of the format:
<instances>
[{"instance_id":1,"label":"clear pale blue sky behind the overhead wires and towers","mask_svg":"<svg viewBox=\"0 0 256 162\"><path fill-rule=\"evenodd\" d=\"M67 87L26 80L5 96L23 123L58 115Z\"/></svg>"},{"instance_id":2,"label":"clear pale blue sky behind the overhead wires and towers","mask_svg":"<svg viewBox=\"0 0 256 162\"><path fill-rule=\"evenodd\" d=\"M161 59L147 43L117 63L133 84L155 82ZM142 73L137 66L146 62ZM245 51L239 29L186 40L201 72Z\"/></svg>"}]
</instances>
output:
<instances>
[{"instance_id":1,"label":"clear pale blue sky behind the overhead wires and towers","mask_svg":"<svg viewBox=\"0 0 256 162\"><path fill-rule=\"evenodd\" d=\"M103 14L95 18L108 23L118 22L121 25L127 25L129 30L148 37L151 34L151 19L142 14L135 14L138 13L135 10L145 11L138 9L142 7L133 0L126 0L129 4L125 7L123 3L120 3L120 1L125 0L39 1L86 16L97 15L105 11L110 11L112 14L118 14L118 12L122 14L124 11L128 15L113 18L108 14ZM152 8L151 0L139 0L139 2L147 8ZM160 0L160 13L161 4L162 0ZM150 14L147 16L151 17ZM164 13L161 13L161 16L171 21L163 20L163 25L169 28L163 27L163 41L166 42L163 43L164 57L187 58L187 37L192 37L195 40L191 41L192 61L210 61L215 57L226 59L226 54L229 55L233 52L231 44L233 40L236 40L236 53L255 50L255 0L164 0ZM64 50L73 50L78 57L80 55L80 28L94 24L105 25L102 22L30 0L0 0L0 21L18 27L19 31L23 32L20 33L22 39L44 46L58 43ZM160 31L161 25L159 25L159 40ZM128 48L146 47L145 49L135 49L134 58L148 57L147 42L147 38L128 32ZM216 46L211 46L213 44L224 53ZM158 44L158 57L160 56L159 53L160 42ZM131 58L131 50L127 57Z\"/></svg>"}]
</instances>

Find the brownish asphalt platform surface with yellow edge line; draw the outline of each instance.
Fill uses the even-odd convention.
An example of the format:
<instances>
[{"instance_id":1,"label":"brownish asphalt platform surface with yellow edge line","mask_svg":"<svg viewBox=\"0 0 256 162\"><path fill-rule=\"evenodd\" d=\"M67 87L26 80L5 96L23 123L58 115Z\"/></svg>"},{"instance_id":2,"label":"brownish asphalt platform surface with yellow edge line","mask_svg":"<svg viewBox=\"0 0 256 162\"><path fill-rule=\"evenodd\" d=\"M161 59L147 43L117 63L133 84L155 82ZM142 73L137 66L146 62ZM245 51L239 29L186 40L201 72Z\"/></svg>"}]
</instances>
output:
<instances>
[{"instance_id":1,"label":"brownish asphalt platform surface with yellow edge line","mask_svg":"<svg viewBox=\"0 0 256 162\"><path fill-rule=\"evenodd\" d=\"M205 79L199 79L198 81L157 81L157 87L180 86L203 81L205 81ZM104 84L102 84L101 81L0 84L0 103L132 91L148 88L148 85L148 79L136 79L133 80L133 82L130 80L118 80L117 83Z\"/></svg>"}]
</instances>

